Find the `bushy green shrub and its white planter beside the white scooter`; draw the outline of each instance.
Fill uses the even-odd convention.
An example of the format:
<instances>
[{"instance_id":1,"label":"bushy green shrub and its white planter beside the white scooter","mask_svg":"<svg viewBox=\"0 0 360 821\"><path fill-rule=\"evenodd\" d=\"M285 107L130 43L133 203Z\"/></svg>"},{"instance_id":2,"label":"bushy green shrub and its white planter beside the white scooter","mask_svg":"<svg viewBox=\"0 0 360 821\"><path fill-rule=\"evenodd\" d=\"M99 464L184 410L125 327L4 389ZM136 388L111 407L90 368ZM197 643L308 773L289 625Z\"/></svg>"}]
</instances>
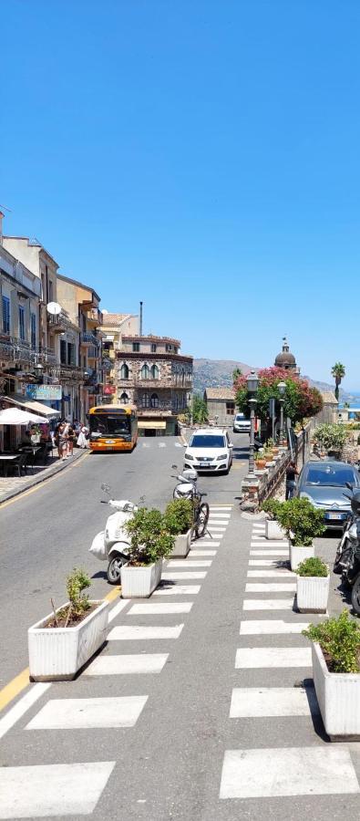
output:
<instances>
[{"instance_id":1,"label":"bushy green shrub and its white planter beside the white scooter","mask_svg":"<svg viewBox=\"0 0 360 821\"><path fill-rule=\"evenodd\" d=\"M129 563L121 569L122 598L149 598L161 578L162 559L170 556L175 535L164 514L140 507L125 525L130 535Z\"/></svg>"}]
</instances>

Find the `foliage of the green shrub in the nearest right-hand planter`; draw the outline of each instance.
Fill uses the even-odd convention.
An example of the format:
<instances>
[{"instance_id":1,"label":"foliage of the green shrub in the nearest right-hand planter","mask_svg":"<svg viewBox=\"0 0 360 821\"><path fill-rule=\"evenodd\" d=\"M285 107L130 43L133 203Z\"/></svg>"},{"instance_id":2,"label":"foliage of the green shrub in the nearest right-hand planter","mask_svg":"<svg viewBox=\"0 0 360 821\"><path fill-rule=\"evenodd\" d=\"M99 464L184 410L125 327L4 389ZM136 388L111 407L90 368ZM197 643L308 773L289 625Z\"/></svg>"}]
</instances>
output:
<instances>
[{"instance_id":1,"label":"foliage of the green shrub in the nearest right-hand planter","mask_svg":"<svg viewBox=\"0 0 360 821\"><path fill-rule=\"evenodd\" d=\"M323 624L310 624L303 636L320 644L331 672L360 672L360 627L347 610Z\"/></svg>"}]
</instances>

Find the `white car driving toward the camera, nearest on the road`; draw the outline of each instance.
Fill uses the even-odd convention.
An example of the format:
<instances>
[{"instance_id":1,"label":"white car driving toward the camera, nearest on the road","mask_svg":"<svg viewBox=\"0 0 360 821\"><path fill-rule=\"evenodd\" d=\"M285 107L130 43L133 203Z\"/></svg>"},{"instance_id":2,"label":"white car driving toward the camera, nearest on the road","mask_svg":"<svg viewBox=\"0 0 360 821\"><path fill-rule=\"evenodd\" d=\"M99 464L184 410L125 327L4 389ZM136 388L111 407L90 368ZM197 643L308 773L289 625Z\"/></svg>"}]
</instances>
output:
<instances>
[{"instance_id":1,"label":"white car driving toward the camera, nearest on the road","mask_svg":"<svg viewBox=\"0 0 360 821\"><path fill-rule=\"evenodd\" d=\"M185 468L209 473L229 473L232 447L228 431L222 428L201 428L192 434L186 448Z\"/></svg>"}]
</instances>

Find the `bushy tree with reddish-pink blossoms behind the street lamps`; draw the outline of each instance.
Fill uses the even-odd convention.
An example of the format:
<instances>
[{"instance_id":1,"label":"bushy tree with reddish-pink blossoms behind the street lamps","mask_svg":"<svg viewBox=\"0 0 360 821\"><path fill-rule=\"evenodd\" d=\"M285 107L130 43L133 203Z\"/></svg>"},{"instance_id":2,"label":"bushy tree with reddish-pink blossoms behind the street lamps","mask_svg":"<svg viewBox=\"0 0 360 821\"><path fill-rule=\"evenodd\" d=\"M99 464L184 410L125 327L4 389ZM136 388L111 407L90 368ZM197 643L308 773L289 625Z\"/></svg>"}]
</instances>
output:
<instances>
[{"instance_id":1,"label":"bushy tree with reddish-pink blossoms behind the street lamps","mask_svg":"<svg viewBox=\"0 0 360 821\"><path fill-rule=\"evenodd\" d=\"M256 415L266 420L269 416L269 400L277 400L280 407L279 382L284 381L286 391L283 402L284 416L294 422L303 421L323 408L323 398L316 388L311 388L306 379L300 379L292 371L284 368L264 368L259 370L259 388L256 394ZM234 383L235 401L239 410L250 416L249 394L246 377L241 376Z\"/></svg>"}]
</instances>

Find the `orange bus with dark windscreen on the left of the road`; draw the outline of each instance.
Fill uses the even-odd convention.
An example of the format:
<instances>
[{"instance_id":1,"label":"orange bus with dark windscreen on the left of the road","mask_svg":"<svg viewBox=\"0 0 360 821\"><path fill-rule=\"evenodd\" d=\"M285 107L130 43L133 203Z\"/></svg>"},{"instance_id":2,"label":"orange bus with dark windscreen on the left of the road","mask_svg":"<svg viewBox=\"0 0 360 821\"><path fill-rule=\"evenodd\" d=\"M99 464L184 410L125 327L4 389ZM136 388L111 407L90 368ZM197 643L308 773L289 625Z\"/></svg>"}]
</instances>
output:
<instances>
[{"instance_id":1,"label":"orange bus with dark windscreen on the left of the road","mask_svg":"<svg viewBox=\"0 0 360 821\"><path fill-rule=\"evenodd\" d=\"M138 442L138 414L131 405L98 405L88 411L90 450L132 451Z\"/></svg>"}]
</instances>

